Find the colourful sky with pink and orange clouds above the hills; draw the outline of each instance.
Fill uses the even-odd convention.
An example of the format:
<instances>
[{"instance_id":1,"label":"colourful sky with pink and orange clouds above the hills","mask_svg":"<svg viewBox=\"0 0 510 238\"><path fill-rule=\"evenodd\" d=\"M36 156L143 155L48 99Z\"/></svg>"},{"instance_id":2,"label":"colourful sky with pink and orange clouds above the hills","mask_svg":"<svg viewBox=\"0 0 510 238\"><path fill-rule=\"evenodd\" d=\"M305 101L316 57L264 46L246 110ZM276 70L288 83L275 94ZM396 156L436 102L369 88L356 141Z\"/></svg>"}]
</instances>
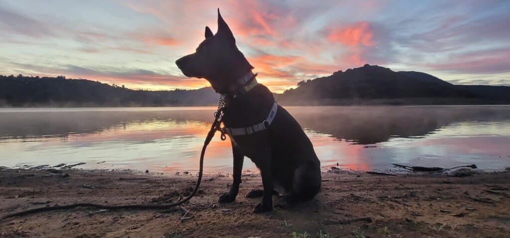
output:
<instances>
[{"instance_id":1,"label":"colourful sky with pink and orange clouds above the hills","mask_svg":"<svg viewBox=\"0 0 510 238\"><path fill-rule=\"evenodd\" d=\"M380 65L454 84L510 86L510 1L0 0L0 74L196 89L175 60L217 11L273 92Z\"/></svg>"}]
</instances>

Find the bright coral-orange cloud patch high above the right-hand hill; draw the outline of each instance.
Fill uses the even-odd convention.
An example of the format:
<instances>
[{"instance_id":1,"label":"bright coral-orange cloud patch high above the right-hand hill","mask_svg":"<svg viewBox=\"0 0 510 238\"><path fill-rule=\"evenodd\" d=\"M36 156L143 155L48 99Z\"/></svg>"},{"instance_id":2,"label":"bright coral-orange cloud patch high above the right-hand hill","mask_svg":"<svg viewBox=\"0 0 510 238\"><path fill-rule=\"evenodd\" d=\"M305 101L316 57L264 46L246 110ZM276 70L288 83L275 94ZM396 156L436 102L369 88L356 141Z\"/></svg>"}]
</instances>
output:
<instances>
[{"instance_id":1,"label":"bright coral-orange cloud patch high above the right-hand hill","mask_svg":"<svg viewBox=\"0 0 510 238\"><path fill-rule=\"evenodd\" d=\"M334 29L329 33L327 39L330 42L340 42L346 46L373 46L373 30L370 23L360 21L348 25L345 28Z\"/></svg>"}]
</instances>

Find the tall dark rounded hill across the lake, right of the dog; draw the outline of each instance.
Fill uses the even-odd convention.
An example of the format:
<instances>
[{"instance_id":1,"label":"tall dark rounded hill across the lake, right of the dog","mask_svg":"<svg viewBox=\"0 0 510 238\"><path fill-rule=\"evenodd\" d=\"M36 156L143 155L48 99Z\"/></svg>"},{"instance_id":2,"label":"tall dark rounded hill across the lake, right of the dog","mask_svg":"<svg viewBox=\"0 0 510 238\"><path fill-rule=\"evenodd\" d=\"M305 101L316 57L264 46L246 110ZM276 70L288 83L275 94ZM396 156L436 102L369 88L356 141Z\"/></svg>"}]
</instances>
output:
<instances>
[{"instance_id":1,"label":"tall dark rounded hill across the lake, right of the dog","mask_svg":"<svg viewBox=\"0 0 510 238\"><path fill-rule=\"evenodd\" d=\"M493 94L497 92L496 94ZM453 85L430 74L365 65L298 83L284 104L505 104L510 87Z\"/></svg>"}]
</instances>

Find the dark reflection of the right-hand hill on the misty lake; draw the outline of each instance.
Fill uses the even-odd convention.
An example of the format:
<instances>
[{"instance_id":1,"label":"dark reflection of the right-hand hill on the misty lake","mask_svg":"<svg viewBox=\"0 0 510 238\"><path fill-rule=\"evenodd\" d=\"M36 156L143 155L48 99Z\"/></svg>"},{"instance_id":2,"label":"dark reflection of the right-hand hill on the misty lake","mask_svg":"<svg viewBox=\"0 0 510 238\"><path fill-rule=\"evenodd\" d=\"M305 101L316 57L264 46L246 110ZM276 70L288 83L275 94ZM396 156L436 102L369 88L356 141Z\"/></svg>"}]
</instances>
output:
<instances>
[{"instance_id":1,"label":"dark reflection of the right-hand hill on the misty lake","mask_svg":"<svg viewBox=\"0 0 510 238\"><path fill-rule=\"evenodd\" d=\"M309 107L289 108L302 127L354 144L393 137L423 137L460 121L510 119L510 107Z\"/></svg>"}]
</instances>

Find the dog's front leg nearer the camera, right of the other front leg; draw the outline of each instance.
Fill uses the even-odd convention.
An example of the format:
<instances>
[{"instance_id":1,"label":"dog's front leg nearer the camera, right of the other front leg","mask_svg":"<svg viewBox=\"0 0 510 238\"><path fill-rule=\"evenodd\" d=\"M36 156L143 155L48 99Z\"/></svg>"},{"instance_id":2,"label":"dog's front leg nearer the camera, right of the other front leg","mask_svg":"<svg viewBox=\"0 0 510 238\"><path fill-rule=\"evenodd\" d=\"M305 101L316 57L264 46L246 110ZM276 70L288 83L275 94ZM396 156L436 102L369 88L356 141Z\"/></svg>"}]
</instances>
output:
<instances>
[{"instance_id":1,"label":"dog's front leg nearer the camera, right of the other front leg","mask_svg":"<svg viewBox=\"0 0 510 238\"><path fill-rule=\"evenodd\" d=\"M264 213L273 209L272 195L274 184L271 171L271 151L269 146L261 151L259 156L260 157L257 161L260 161L259 169L260 175L262 176L262 185L264 186L264 195L262 197L262 202L253 208L253 213Z\"/></svg>"}]
</instances>

